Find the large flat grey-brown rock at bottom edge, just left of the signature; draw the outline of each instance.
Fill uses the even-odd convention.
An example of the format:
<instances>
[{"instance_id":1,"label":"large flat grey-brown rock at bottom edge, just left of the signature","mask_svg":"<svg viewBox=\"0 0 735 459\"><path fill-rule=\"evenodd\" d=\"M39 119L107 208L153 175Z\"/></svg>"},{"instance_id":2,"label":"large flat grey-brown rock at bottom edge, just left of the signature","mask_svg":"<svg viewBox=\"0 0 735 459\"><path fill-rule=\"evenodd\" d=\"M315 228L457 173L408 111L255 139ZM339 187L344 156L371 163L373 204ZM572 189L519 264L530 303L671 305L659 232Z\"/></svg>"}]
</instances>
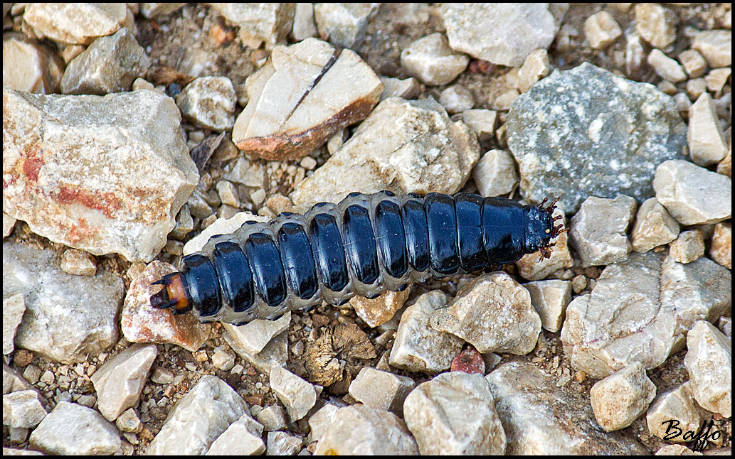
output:
<instances>
[{"instance_id":1,"label":"large flat grey-brown rock at bottom edge, just left of the signature","mask_svg":"<svg viewBox=\"0 0 735 459\"><path fill-rule=\"evenodd\" d=\"M486 378L508 436L506 455L648 454L634 439L603 433L587 397L558 388L536 366L510 362Z\"/></svg>"}]
</instances>

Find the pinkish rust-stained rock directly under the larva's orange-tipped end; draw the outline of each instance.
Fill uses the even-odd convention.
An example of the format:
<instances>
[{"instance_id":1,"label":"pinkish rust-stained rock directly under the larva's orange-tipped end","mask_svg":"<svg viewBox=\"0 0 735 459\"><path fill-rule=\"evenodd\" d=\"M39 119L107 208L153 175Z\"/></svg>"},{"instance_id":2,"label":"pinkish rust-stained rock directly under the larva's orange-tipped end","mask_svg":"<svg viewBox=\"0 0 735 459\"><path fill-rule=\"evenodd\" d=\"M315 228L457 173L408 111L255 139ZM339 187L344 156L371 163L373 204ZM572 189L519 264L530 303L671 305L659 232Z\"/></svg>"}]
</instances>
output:
<instances>
[{"instance_id":1,"label":"pinkish rust-stained rock directly under the larva's orange-tipped end","mask_svg":"<svg viewBox=\"0 0 735 459\"><path fill-rule=\"evenodd\" d=\"M151 294L161 289L151 282L175 271L171 264L156 260L130 283L120 321L125 339L134 343L178 344L195 351L209 338L212 325L200 323L196 314L176 316L171 310L151 306Z\"/></svg>"}]
</instances>

